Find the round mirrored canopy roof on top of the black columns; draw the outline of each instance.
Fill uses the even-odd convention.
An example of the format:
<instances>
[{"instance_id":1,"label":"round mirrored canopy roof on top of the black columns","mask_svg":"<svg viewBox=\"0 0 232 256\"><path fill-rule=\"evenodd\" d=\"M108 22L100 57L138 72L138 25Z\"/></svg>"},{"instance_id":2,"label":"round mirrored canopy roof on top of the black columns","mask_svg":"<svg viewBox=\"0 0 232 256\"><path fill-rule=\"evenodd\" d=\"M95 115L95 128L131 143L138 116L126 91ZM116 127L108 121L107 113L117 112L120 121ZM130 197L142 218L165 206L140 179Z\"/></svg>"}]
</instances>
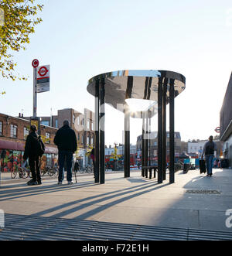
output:
<instances>
[{"instance_id":1,"label":"round mirrored canopy roof on top of the black columns","mask_svg":"<svg viewBox=\"0 0 232 256\"><path fill-rule=\"evenodd\" d=\"M125 111L125 104L128 104L132 118L142 118L142 112L148 109L151 116L157 113L159 84L166 85L167 104L171 83L174 83L175 97L186 87L186 78L180 73L166 70L118 70L92 77L88 81L87 91L95 96L96 81L103 79L105 102L122 112ZM135 100L143 100L141 109L139 104L135 108Z\"/></svg>"}]
</instances>

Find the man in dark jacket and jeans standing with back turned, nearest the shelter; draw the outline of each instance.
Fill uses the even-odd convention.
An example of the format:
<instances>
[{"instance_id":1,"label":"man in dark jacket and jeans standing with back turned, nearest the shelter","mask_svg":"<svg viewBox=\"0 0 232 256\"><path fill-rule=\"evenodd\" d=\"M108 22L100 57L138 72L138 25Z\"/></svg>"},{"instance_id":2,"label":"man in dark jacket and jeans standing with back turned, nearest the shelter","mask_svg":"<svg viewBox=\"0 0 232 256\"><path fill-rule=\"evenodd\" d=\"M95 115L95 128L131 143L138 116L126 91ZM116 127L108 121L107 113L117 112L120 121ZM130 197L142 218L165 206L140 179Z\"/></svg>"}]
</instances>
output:
<instances>
[{"instance_id":1,"label":"man in dark jacket and jeans standing with back turned, nearest the shelter","mask_svg":"<svg viewBox=\"0 0 232 256\"><path fill-rule=\"evenodd\" d=\"M72 182L73 153L77 151L77 137L75 131L70 128L69 121L63 121L63 127L56 132L54 143L58 147L59 176L58 185L61 185L64 178L64 162L67 165L67 182Z\"/></svg>"}]
</instances>

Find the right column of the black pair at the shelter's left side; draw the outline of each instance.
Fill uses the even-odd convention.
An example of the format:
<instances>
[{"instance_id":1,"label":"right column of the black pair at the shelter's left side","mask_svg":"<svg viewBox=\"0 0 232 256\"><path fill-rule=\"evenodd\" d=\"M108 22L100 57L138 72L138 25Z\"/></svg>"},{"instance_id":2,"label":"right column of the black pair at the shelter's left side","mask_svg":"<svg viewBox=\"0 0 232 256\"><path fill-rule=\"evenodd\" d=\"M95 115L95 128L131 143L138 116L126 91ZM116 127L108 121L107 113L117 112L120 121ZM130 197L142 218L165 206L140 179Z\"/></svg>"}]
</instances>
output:
<instances>
[{"instance_id":1,"label":"right column of the black pair at the shelter's left side","mask_svg":"<svg viewBox=\"0 0 232 256\"><path fill-rule=\"evenodd\" d=\"M105 156L104 156L104 78L100 80L100 183L104 183Z\"/></svg>"}]
</instances>

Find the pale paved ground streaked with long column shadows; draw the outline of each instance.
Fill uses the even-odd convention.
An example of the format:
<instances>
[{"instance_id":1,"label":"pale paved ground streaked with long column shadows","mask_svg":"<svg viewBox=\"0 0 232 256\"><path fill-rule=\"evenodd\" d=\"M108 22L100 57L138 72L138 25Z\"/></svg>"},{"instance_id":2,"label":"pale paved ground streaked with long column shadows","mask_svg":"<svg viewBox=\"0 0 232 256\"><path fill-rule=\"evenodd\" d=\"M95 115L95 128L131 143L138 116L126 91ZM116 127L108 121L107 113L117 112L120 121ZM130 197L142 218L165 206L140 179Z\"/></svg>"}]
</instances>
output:
<instances>
[{"instance_id":1,"label":"pale paved ground streaked with long column shadows","mask_svg":"<svg viewBox=\"0 0 232 256\"><path fill-rule=\"evenodd\" d=\"M141 170L131 171L130 178L124 178L124 172L106 173L104 184L94 183L92 174L78 175L77 183L73 185L67 185L67 181L62 186L56 183L57 178L43 179L41 186L27 186L22 180L21 183L7 181L2 184L0 209L6 220L3 231L12 220L31 217L31 220L36 218L35 221L46 220L46 223L49 220L54 223L97 223L103 230L105 225L115 228L117 224L125 225L125 228L129 225L135 230L138 227L160 227L159 230L166 230L165 234L170 230L172 234L178 233L177 230L186 234L194 230L195 237L204 232L201 239L213 234L220 240L217 234L221 234L232 240L231 215L226 215L226 212L232 214L231 169L213 169L212 177L200 174L199 169L189 170L186 174L179 171L172 184L168 174L167 179L159 184L157 179L143 178ZM9 231L14 234L19 232L19 227L12 226ZM111 230L113 233L114 229ZM80 234L77 239L80 239Z\"/></svg>"}]
</instances>

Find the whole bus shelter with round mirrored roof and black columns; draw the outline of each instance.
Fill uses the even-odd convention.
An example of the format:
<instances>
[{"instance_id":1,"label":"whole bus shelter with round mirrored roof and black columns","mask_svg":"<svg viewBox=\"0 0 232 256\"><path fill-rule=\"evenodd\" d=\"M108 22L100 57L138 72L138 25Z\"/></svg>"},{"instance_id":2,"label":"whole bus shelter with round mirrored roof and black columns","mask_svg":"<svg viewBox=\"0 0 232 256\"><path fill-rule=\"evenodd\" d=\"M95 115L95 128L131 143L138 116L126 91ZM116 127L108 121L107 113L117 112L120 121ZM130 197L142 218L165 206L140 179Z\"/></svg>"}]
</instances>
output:
<instances>
[{"instance_id":1,"label":"whole bus shelter with round mirrored roof and black columns","mask_svg":"<svg viewBox=\"0 0 232 256\"><path fill-rule=\"evenodd\" d=\"M125 178L130 176L130 118L142 118L142 166L148 166L150 120L158 114L158 183L165 180L166 105L169 104L169 182L174 183L175 97L186 87L186 78L167 70L118 70L92 77L87 91L95 97L95 183L105 180L104 104L125 114ZM144 111L131 111L131 100L147 100Z\"/></svg>"}]
</instances>

